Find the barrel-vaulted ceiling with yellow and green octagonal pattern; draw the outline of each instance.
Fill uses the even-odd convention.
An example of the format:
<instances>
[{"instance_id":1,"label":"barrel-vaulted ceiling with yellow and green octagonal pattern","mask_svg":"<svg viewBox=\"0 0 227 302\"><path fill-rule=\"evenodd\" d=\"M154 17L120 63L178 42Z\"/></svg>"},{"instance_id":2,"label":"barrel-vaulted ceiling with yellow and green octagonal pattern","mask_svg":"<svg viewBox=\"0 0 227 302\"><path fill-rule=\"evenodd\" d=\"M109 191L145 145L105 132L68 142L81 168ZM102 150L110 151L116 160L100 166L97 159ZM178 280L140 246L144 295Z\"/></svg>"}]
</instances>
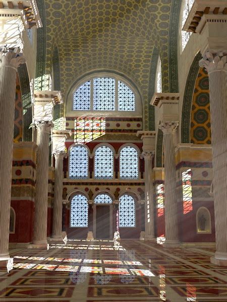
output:
<instances>
[{"instance_id":1,"label":"barrel-vaulted ceiling with yellow and green octagonal pattern","mask_svg":"<svg viewBox=\"0 0 227 302\"><path fill-rule=\"evenodd\" d=\"M163 91L169 90L168 36L173 2L45 0L46 73L51 72L54 48L58 47L64 97L78 78L92 70L125 74L141 92L147 121L154 48L162 59Z\"/></svg>"}]
</instances>

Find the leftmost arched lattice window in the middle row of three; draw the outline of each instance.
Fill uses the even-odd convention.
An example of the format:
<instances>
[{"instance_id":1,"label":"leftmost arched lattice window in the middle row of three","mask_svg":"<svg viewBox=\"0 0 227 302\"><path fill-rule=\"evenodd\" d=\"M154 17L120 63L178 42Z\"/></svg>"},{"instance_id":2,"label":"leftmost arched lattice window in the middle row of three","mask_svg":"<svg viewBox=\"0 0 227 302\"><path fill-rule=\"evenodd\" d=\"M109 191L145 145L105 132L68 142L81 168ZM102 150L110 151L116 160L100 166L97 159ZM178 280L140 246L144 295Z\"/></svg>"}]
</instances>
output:
<instances>
[{"instance_id":1,"label":"leftmost arched lattice window in the middle row of three","mask_svg":"<svg viewBox=\"0 0 227 302\"><path fill-rule=\"evenodd\" d=\"M88 178L88 150L85 146L75 145L70 150L69 178Z\"/></svg>"}]
</instances>

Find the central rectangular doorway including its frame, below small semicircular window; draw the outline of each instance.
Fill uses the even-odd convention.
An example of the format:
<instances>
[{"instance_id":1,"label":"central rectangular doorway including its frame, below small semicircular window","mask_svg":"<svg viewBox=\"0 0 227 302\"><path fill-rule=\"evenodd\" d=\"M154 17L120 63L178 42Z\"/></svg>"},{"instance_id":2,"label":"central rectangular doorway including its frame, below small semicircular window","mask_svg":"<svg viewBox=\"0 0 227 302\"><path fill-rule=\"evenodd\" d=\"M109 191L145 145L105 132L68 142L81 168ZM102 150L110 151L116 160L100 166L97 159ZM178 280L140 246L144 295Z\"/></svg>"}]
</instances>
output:
<instances>
[{"instance_id":1,"label":"central rectangular doorway including its frame, below small semicircular window","mask_svg":"<svg viewBox=\"0 0 227 302\"><path fill-rule=\"evenodd\" d=\"M94 238L112 239L112 204L94 204Z\"/></svg>"}]
</instances>

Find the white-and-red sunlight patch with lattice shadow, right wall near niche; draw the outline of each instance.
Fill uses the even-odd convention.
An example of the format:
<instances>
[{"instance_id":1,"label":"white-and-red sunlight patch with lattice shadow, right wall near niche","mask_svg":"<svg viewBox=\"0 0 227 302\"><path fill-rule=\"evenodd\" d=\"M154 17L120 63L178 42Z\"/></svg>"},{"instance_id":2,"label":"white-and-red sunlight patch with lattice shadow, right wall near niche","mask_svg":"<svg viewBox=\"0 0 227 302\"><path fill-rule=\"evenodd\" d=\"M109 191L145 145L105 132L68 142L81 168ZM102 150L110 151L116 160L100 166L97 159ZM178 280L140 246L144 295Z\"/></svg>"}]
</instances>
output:
<instances>
[{"instance_id":1,"label":"white-and-red sunlight patch with lattice shadow, right wall near niche","mask_svg":"<svg viewBox=\"0 0 227 302\"><path fill-rule=\"evenodd\" d=\"M193 210L192 205L192 171L182 172L183 212L187 214Z\"/></svg>"}]
</instances>

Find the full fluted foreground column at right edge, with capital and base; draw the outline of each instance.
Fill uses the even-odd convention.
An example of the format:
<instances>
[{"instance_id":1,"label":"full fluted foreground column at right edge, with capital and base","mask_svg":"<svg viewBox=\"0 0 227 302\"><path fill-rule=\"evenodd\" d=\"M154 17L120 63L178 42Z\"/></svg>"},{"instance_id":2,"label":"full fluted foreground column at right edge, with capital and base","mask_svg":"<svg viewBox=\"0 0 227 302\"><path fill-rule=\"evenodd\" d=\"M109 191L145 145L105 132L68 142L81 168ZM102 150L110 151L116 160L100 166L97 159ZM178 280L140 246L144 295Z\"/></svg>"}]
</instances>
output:
<instances>
[{"instance_id":1,"label":"full fluted foreground column at right edge, with capital and base","mask_svg":"<svg viewBox=\"0 0 227 302\"><path fill-rule=\"evenodd\" d=\"M211 262L227 265L226 53L207 52L199 65L209 75L216 252Z\"/></svg>"}]
</instances>

